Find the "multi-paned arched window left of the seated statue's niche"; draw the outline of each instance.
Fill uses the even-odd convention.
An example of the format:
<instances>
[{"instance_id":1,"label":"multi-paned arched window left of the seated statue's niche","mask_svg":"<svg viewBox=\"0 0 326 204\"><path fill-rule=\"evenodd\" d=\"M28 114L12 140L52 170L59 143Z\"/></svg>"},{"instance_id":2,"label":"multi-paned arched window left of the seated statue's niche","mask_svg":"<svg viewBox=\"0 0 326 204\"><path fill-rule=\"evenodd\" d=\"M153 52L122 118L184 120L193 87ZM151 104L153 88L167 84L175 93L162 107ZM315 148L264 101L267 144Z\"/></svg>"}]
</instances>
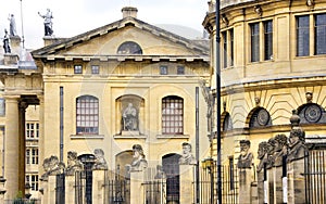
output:
<instances>
[{"instance_id":1,"label":"multi-paned arched window left of the seated statue's niche","mask_svg":"<svg viewBox=\"0 0 326 204\"><path fill-rule=\"evenodd\" d=\"M76 99L76 133L99 133L99 100L91 95Z\"/></svg>"}]
</instances>

